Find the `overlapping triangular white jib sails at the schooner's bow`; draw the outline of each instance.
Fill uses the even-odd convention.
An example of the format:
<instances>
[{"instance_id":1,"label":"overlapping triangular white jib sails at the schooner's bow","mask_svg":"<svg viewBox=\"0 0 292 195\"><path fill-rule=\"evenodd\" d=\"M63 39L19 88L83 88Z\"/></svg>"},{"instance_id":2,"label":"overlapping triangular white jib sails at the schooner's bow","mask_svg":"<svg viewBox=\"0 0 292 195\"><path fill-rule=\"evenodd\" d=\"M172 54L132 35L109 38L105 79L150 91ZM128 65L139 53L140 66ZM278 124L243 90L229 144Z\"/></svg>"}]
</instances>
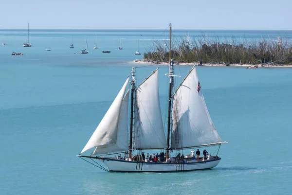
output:
<instances>
[{"instance_id":1,"label":"overlapping triangular white jib sails at the schooner's bow","mask_svg":"<svg viewBox=\"0 0 292 195\"><path fill-rule=\"evenodd\" d=\"M128 80L81 153L92 147L96 147L92 155L128 150L128 92L124 97Z\"/></svg>"}]
</instances>

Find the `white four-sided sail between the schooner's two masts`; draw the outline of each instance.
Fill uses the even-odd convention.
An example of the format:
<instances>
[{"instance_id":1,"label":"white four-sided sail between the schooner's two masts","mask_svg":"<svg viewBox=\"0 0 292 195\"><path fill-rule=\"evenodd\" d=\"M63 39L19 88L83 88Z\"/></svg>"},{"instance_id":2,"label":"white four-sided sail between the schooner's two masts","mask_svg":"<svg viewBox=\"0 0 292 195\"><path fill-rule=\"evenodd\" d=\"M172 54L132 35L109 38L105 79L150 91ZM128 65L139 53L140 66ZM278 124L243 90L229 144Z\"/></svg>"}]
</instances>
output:
<instances>
[{"instance_id":1,"label":"white four-sided sail between the schooner's two masts","mask_svg":"<svg viewBox=\"0 0 292 195\"><path fill-rule=\"evenodd\" d=\"M166 145L156 69L136 90L134 147L156 149Z\"/></svg>"}]
</instances>

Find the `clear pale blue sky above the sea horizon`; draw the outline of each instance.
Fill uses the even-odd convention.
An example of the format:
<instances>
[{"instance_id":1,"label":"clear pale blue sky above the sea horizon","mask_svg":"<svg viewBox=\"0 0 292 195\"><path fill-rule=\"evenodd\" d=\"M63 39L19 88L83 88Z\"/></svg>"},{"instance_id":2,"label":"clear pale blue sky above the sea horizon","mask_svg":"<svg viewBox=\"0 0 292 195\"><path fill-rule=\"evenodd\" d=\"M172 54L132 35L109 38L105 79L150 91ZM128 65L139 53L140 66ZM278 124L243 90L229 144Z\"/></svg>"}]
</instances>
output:
<instances>
[{"instance_id":1,"label":"clear pale blue sky above the sea horizon","mask_svg":"<svg viewBox=\"0 0 292 195\"><path fill-rule=\"evenodd\" d=\"M292 0L0 0L0 29L292 29Z\"/></svg>"}]
</instances>

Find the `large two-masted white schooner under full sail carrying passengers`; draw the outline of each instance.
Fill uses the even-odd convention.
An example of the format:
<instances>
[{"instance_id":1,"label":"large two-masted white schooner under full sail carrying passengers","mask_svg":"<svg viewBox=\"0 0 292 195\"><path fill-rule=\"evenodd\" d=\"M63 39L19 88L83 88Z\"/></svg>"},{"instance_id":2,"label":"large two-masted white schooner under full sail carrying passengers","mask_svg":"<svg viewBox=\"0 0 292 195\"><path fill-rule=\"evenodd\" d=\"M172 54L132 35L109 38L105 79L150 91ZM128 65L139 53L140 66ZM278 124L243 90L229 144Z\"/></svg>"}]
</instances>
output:
<instances>
[{"instance_id":1,"label":"large two-masted white schooner under full sail carrying passengers","mask_svg":"<svg viewBox=\"0 0 292 195\"><path fill-rule=\"evenodd\" d=\"M171 37L171 24L169 26ZM180 156L170 158L171 150L176 150L179 154L179 151L186 148L214 145L220 147L226 142L221 141L211 120L196 68L193 67L181 85L173 91L173 77L176 75L170 52L169 61L169 72L166 74L169 77L167 135L164 133L160 109L158 69L136 86L135 68L132 68L131 78L126 79L109 110L81 151L83 153L94 148L93 152L90 156L80 153L78 157L93 160L96 163L94 165L105 171L189 171L210 169L218 165L221 160L217 156L218 152L216 156L209 155L196 159ZM151 156L145 158L142 153L143 150L158 149L166 151L166 158L162 152L159 160L153 161ZM133 155L134 151L137 155ZM121 153L124 153L124 158L121 157ZM108 156L112 154L120 155L115 158Z\"/></svg>"}]
</instances>

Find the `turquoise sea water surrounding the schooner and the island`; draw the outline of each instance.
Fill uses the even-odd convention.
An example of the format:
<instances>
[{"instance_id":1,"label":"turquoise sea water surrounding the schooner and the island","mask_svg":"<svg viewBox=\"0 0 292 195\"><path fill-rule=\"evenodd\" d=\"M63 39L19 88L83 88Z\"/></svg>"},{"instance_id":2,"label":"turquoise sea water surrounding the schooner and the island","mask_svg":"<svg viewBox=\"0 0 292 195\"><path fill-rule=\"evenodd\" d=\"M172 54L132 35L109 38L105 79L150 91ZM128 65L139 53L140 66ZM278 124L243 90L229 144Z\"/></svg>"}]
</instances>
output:
<instances>
[{"instance_id":1,"label":"turquoise sea water surrounding the schooner and the island","mask_svg":"<svg viewBox=\"0 0 292 195\"><path fill-rule=\"evenodd\" d=\"M285 31L207 31L209 36L292 36ZM99 49L93 50L97 34ZM219 165L183 173L107 173L76 157L135 66L137 83L159 67L133 64L163 31L0 31L0 195L290 195L292 69L197 67L223 141ZM174 31L181 37L200 31ZM86 48L88 54L74 54ZM141 36L142 35L142 36ZM69 48L72 42L75 48ZM118 51L120 38L124 49ZM162 40L163 41L163 40ZM52 51L46 52L50 48ZM111 53L101 53L111 50ZM24 55L13 56L11 52ZM176 67L184 76L191 66ZM178 78L177 83L182 78ZM165 117L163 117L165 118ZM209 150L209 149L207 149ZM211 149L210 149L211 150ZM209 151L210 152L210 151ZM190 151L186 151L190 154Z\"/></svg>"}]
</instances>

